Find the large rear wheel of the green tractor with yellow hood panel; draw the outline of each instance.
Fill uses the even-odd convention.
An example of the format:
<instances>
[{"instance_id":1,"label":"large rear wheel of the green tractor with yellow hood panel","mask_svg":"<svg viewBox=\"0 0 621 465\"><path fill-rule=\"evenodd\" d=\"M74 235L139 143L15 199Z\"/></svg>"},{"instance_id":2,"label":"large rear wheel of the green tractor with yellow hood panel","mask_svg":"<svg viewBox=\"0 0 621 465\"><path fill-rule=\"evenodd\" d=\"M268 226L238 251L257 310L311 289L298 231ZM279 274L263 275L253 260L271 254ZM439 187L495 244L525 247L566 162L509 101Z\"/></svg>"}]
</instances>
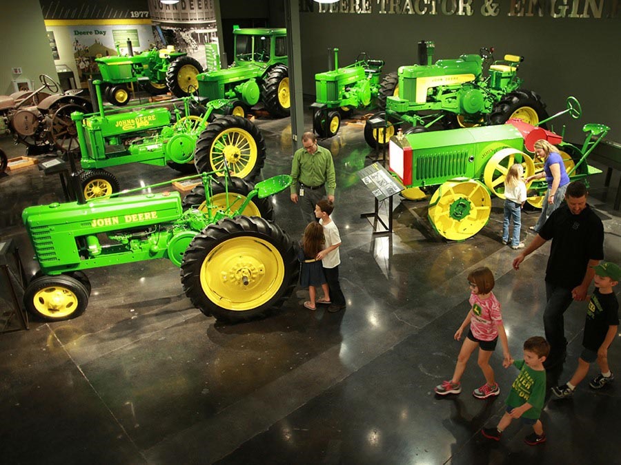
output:
<instances>
[{"instance_id":1,"label":"large rear wheel of the green tractor with yellow hood panel","mask_svg":"<svg viewBox=\"0 0 621 465\"><path fill-rule=\"evenodd\" d=\"M547 117L546 105L541 101L541 97L531 90L520 89L506 94L494 105L489 115L489 123L504 124L509 118L518 118L536 126Z\"/></svg>"}]
</instances>

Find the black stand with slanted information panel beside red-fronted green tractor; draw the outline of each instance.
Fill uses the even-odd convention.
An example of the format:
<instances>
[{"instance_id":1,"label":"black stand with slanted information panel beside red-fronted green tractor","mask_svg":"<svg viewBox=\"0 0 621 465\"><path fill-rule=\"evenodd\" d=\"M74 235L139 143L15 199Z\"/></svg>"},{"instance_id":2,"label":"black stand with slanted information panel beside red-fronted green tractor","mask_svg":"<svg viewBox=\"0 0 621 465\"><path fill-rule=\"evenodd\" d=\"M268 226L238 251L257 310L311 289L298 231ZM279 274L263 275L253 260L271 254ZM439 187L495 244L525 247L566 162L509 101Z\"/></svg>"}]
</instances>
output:
<instances>
[{"instance_id":1,"label":"black stand with slanted information panel beside red-fronted green tractor","mask_svg":"<svg viewBox=\"0 0 621 465\"><path fill-rule=\"evenodd\" d=\"M378 162L362 168L357 175L375 197L375 211L363 213L360 218L374 218L373 223L369 222L373 225L373 234L391 234L393 232L393 196L399 194L405 187L398 183ZM388 225L380 216L380 203L384 203L386 199L388 199ZM376 230L377 223L384 227L383 231Z\"/></svg>"}]
</instances>

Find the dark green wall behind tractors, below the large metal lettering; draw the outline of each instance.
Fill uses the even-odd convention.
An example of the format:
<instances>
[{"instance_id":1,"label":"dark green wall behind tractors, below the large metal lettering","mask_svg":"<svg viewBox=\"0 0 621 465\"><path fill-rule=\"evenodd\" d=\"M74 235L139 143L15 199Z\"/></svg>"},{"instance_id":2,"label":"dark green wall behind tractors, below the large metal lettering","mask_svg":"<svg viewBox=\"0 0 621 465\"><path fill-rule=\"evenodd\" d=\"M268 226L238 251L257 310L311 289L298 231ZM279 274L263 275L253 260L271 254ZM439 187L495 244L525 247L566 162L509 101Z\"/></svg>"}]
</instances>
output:
<instances>
[{"instance_id":1,"label":"dark green wall behind tractors, below the large metal lettering","mask_svg":"<svg viewBox=\"0 0 621 465\"><path fill-rule=\"evenodd\" d=\"M375 6L378 0L368 1ZM563 110L566 96L578 97L583 116L567 127L573 140L582 141L582 125L593 122L609 125L608 138L621 141L621 11L604 17L618 0L602 1L602 19L509 17L509 0L495 2L500 5L497 17L483 17L483 2L477 0L470 17L320 13L315 3L315 12L300 13L304 93L315 94L314 74L327 70L329 47L339 48L340 65L364 51L384 59L384 72L389 72L417 63L420 40L435 41L434 61L493 46L496 59L507 53L525 57L520 67L524 87L538 92L549 112ZM351 0L344 3L351 5Z\"/></svg>"}]
</instances>

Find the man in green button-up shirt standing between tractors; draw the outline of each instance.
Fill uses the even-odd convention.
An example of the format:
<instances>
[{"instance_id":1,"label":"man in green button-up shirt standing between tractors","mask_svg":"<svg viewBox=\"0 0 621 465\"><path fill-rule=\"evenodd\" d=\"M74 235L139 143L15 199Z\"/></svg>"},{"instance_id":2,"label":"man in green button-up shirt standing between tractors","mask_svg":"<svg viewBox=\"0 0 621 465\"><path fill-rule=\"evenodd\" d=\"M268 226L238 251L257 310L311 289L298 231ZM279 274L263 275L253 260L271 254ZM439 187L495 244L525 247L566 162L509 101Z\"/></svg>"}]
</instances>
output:
<instances>
[{"instance_id":1,"label":"man in green button-up shirt standing between tractors","mask_svg":"<svg viewBox=\"0 0 621 465\"><path fill-rule=\"evenodd\" d=\"M330 151L317 145L317 138L312 132L302 136L301 149L293 154L291 165L291 201L299 205L302 218L306 224L316 221L315 205L326 198L334 202L336 176L334 161Z\"/></svg>"}]
</instances>

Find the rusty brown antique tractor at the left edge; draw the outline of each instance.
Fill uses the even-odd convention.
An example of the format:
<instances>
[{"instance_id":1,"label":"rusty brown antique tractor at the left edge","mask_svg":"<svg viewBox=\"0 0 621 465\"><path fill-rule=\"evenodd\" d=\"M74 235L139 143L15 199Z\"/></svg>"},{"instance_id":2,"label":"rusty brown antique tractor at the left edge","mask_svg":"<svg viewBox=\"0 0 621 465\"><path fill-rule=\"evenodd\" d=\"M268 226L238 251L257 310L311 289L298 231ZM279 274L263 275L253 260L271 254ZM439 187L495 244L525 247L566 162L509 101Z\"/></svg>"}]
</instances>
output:
<instances>
[{"instance_id":1,"label":"rusty brown antique tractor at the left edge","mask_svg":"<svg viewBox=\"0 0 621 465\"><path fill-rule=\"evenodd\" d=\"M36 90L0 96L0 118L15 141L26 145L29 155L77 150L71 114L92 112L90 100L80 95L82 90L58 94L60 86L46 74L41 74L39 80L41 86Z\"/></svg>"}]
</instances>

